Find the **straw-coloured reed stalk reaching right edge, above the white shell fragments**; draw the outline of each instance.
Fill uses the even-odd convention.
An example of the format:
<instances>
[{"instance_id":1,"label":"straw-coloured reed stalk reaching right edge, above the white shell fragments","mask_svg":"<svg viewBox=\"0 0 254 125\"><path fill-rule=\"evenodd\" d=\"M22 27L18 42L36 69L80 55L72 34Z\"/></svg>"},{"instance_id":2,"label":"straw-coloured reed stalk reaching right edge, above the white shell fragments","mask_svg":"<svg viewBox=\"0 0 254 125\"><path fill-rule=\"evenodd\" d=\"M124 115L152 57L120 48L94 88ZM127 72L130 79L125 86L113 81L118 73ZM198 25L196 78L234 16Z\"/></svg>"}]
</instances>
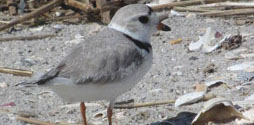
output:
<instances>
[{"instance_id":1,"label":"straw-coloured reed stalk reaching right edge, above the white shell fragments","mask_svg":"<svg viewBox=\"0 0 254 125\"><path fill-rule=\"evenodd\" d=\"M234 10L223 10L223 11L211 11L211 12L200 13L199 15L219 17L219 16L248 15L248 14L254 14L254 9L234 9Z\"/></svg>"}]
</instances>

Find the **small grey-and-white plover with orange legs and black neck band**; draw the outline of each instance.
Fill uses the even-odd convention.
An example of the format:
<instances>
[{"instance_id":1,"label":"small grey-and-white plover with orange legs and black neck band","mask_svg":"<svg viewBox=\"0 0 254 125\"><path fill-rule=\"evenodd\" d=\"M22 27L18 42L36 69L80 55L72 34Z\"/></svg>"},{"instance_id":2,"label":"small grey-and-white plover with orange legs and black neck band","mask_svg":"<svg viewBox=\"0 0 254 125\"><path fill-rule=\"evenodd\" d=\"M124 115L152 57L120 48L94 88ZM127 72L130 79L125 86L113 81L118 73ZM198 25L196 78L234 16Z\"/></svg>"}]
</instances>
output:
<instances>
[{"instance_id":1,"label":"small grey-and-white plover with orange legs and black neck band","mask_svg":"<svg viewBox=\"0 0 254 125\"><path fill-rule=\"evenodd\" d=\"M84 102L107 100L108 124L112 125L115 99L134 87L150 69L150 39L157 30L171 30L162 23L167 18L166 13L154 12L145 4L124 6L106 28L73 47L56 67L17 85L48 87L67 102L80 102L84 125Z\"/></svg>"}]
</instances>

